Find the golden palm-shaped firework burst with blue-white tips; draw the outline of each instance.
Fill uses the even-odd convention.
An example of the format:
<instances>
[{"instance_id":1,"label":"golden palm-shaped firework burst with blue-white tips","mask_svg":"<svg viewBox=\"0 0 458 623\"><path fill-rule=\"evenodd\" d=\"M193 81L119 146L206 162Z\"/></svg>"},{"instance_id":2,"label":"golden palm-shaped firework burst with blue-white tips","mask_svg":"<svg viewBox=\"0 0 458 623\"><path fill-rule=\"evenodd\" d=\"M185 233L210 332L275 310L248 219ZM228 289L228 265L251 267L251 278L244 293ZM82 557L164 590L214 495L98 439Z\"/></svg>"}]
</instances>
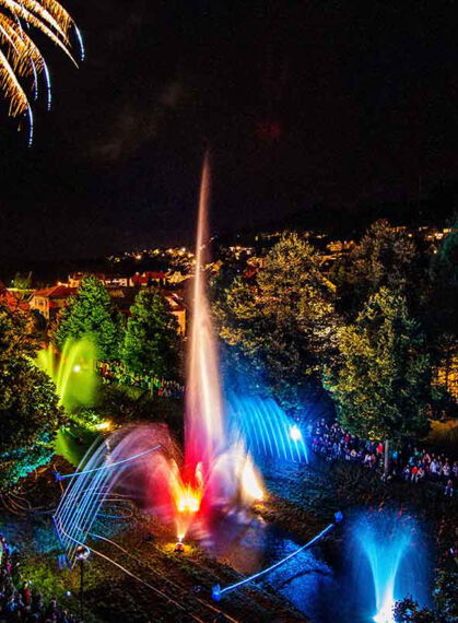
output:
<instances>
[{"instance_id":1,"label":"golden palm-shaped firework burst with blue-white tips","mask_svg":"<svg viewBox=\"0 0 458 623\"><path fill-rule=\"evenodd\" d=\"M45 59L34 43L31 32L36 28L54 42L73 62L70 52L70 31L81 36L73 20L55 0L0 0L0 90L9 102L10 115L27 115L33 136L33 116L28 91L38 97L38 77L45 75L50 106L50 79Z\"/></svg>"}]
</instances>

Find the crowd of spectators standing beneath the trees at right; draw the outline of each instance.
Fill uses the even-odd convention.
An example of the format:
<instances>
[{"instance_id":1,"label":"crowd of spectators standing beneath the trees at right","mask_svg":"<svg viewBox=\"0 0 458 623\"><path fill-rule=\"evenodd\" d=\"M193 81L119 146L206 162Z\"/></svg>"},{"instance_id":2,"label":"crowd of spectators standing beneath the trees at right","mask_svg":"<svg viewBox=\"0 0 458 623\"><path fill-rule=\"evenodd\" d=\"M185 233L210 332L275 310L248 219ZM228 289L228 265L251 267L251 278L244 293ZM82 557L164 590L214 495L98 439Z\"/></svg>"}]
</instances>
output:
<instances>
[{"instance_id":1,"label":"crowd of spectators standing beneath the trees at right","mask_svg":"<svg viewBox=\"0 0 458 623\"><path fill-rule=\"evenodd\" d=\"M431 481L444 486L445 495L453 496L458 483L458 461L450 460L445 454L432 452L425 448L413 447L399 451L392 449L389 456L389 472L385 473L385 445L383 442L369 442L355 437L344 431L338 422L328 423L318 420L310 426L312 449L327 460L343 459L359 462L368 469L380 469L387 480L402 479L418 484Z\"/></svg>"}]
</instances>

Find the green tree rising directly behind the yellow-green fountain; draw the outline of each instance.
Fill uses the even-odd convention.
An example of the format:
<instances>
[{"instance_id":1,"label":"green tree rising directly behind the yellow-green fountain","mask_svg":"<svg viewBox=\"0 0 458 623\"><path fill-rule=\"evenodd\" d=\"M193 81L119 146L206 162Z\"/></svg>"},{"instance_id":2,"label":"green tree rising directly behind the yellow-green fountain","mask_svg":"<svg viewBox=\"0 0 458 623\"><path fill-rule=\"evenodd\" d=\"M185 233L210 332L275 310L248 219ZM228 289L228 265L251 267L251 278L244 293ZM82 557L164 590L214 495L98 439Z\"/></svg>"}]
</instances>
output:
<instances>
[{"instance_id":1,"label":"green tree rising directly behind the yellow-green fountain","mask_svg":"<svg viewBox=\"0 0 458 623\"><path fill-rule=\"evenodd\" d=\"M51 339L62 349L69 338L90 338L98 358L110 361L119 357L122 334L121 315L106 287L97 278L85 277L77 295L59 313Z\"/></svg>"}]
</instances>

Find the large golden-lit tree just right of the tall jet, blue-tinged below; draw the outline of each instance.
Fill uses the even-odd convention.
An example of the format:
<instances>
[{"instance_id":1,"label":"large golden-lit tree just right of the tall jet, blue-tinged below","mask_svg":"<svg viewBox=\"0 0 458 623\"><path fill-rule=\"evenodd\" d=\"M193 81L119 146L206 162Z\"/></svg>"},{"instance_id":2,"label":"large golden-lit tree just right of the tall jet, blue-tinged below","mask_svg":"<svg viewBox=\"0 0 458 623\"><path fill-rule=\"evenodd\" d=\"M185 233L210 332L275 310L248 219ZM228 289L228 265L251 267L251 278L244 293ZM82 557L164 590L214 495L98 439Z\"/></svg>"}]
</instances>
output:
<instances>
[{"instance_id":1,"label":"large golden-lit tree just right of the tall jet, blue-tinged below","mask_svg":"<svg viewBox=\"0 0 458 623\"><path fill-rule=\"evenodd\" d=\"M286 408L298 407L304 392L321 390L337 318L332 284L305 239L283 235L256 283L236 279L215 302L214 314L231 366L249 371L255 386L266 385Z\"/></svg>"}]
</instances>

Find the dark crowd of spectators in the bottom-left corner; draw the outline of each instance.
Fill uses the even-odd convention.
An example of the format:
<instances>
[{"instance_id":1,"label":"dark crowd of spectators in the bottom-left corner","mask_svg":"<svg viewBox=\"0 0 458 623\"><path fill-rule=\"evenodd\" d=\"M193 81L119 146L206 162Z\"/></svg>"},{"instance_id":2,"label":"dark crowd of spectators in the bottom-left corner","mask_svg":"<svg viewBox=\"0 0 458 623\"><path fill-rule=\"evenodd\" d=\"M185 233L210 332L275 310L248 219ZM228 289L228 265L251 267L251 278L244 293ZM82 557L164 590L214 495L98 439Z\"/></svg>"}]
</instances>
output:
<instances>
[{"instance_id":1,"label":"dark crowd of spectators in the bottom-left corner","mask_svg":"<svg viewBox=\"0 0 458 623\"><path fill-rule=\"evenodd\" d=\"M0 623L78 623L56 597L45 603L39 589L21 574L17 551L0 534Z\"/></svg>"}]
</instances>

